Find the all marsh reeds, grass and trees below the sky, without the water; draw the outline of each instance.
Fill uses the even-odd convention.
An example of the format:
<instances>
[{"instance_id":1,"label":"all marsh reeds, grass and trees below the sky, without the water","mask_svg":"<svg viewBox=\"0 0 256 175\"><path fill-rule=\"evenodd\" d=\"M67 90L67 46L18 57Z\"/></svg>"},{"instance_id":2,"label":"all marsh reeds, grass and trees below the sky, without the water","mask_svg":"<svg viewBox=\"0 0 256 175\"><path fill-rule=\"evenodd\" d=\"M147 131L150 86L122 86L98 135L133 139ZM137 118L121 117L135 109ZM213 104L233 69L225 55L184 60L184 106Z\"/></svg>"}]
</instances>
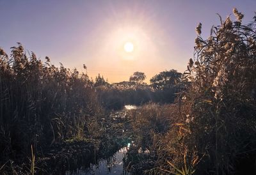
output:
<instances>
[{"instance_id":1,"label":"all marsh reeds, grass and trees below the sky, without the water","mask_svg":"<svg viewBox=\"0 0 256 175\"><path fill-rule=\"evenodd\" d=\"M256 16L233 12L207 39L198 24L188 70L150 85L141 72L109 84L20 43L1 49L0 173L81 172L126 148L130 174L255 174Z\"/></svg>"}]
</instances>

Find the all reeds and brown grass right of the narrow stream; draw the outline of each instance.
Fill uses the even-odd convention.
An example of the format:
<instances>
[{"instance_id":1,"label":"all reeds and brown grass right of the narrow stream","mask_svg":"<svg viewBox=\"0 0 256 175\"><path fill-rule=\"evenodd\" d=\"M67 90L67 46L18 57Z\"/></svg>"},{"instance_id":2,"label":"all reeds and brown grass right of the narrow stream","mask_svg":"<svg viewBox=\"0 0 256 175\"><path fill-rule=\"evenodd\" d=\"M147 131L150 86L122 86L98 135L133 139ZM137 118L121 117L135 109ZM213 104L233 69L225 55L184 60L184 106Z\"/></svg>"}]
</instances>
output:
<instances>
[{"instance_id":1,"label":"all reeds and brown grass right of the narrow stream","mask_svg":"<svg viewBox=\"0 0 256 175\"><path fill-rule=\"evenodd\" d=\"M236 21L221 20L206 40L196 27L184 73L190 83L175 104L129 112L136 140L129 171L256 174L256 16L243 25L243 14L233 13Z\"/></svg>"}]
</instances>

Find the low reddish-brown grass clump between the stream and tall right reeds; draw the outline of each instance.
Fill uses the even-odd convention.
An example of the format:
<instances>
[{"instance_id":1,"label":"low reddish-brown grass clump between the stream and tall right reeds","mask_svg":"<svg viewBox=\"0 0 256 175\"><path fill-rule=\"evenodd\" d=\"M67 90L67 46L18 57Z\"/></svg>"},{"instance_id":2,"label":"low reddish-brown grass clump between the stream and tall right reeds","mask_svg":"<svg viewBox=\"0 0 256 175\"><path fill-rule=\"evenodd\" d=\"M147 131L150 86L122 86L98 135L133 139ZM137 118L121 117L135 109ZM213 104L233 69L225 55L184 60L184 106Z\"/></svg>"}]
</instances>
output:
<instances>
[{"instance_id":1,"label":"low reddish-brown grass clump between the stream and tall right reeds","mask_svg":"<svg viewBox=\"0 0 256 175\"><path fill-rule=\"evenodd\" d=\"M155 135L166 133L172 123L172 113L172 105L156 105L154 103L127 112L137 147L143 150L148 149L148 146L154 143Z\"/></svg>"}]
</instances>

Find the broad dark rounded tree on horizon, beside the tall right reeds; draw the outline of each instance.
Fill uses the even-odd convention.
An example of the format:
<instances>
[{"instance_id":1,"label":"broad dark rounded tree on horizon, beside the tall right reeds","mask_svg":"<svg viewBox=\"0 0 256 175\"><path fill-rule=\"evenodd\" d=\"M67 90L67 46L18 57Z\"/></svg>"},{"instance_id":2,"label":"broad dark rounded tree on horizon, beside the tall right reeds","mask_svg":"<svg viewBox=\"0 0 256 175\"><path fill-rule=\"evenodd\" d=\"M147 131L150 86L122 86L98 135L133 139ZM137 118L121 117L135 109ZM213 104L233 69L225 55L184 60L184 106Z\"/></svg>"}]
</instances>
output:
<instances>
[{"instance_id":1,"label":"broad dark rounded tree on horizon, beside the tall right reeds","mask_svg":"<svg viewBox=\"0 0 256 175\"><path fill-rule=\"evenodd\" d=\"M175 86L180 82L181 76L182 73L177 72L177 70L166 70L152 77L150 83L154 88L170 88L170 86Z\"/></svg>"}]
</instances>

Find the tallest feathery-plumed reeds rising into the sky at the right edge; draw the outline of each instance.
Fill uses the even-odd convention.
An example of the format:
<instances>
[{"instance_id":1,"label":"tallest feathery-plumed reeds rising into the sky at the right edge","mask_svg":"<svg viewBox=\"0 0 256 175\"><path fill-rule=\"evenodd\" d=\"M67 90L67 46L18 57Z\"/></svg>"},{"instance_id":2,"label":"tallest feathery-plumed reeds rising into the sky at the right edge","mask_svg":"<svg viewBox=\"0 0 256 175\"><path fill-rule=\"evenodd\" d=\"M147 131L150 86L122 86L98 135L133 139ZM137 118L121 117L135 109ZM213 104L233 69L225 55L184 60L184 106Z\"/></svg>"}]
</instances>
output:
<instances>
[{"instance_id":1,"label":"tallest feathery-plumed reeds rising into the sky at the right edge","mask_svg":"<svg viewBox=\"0 0 256 175\"><path fill-rule=\"evenodd\" d=\"M188 65L189 128L198 155L206 154L199 167L214 174L232 174L244 161L255 161L256 17L243 25L243 14L233 12L236 21L220 17L206 40L202 25L196 27L195 58Z\"/></svg>"}]
</instances>

